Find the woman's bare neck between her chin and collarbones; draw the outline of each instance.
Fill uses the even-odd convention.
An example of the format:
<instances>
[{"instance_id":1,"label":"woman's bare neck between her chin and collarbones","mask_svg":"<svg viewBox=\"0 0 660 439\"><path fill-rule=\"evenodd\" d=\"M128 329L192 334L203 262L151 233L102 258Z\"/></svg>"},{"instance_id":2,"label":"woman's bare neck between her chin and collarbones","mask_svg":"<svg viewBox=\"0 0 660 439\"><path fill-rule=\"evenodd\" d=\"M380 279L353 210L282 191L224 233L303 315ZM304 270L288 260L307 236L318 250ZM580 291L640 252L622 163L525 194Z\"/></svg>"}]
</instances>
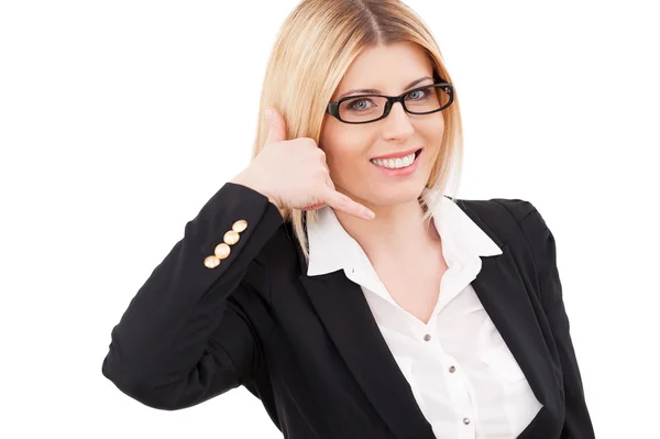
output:
<instances>
[{"instance_id":1,"label":"woman's bare neck between her chin and collarbones","mask_svg":"<svg viewBox=\"0 0 660 439\"><path fill-rule=\"evenodd\" d=\"M374 206L359 199L355 201L372 209L376 218L366 221L340 210L334 210L334 213L372 261L388 255L419 255L440 241L436 228L424 223L424 211L416 199L395 206Z\"/></svg>"}]
</instances>

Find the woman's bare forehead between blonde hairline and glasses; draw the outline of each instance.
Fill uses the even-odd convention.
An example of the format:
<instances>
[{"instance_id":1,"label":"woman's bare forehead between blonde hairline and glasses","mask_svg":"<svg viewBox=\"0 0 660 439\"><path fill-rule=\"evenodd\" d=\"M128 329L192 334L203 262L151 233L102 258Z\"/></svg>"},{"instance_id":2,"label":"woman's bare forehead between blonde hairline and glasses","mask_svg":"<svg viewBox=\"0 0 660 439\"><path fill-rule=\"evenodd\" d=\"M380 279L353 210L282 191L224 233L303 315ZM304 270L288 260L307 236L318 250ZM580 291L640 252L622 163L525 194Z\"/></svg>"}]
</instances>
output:
<instances>
[{"instance_id":1,"label":"woman's bare forehead between blonde hairline and glasses","mask_svg":"<svg viewBox=\"0 0 660 439\"><path fill-rule=\"evenodd\" d=\"M398 94L422 76L433 76L426 52L413 43L394 43L370 47L349 66L333 97L355 88L374 88Z\"/></svg>"}]
</instances>

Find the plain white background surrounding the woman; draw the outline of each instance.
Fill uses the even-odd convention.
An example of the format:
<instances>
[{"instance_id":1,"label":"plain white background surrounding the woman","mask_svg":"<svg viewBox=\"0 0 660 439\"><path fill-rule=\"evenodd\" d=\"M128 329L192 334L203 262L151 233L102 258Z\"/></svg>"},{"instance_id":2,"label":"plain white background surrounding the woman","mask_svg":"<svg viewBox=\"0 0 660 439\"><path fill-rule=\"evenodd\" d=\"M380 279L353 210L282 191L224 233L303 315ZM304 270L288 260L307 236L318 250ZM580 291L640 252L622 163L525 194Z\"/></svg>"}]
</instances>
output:
<instances>
[{"instance_id":1,"label":"plain white background surrounding the woman","mask_svg":"<svg viewBox=\"0 0 660 439\"><path fill-rule=\"evenodd\" d=\"M295 4L1 3L0 437L280 437L244 388L158 411L101 363L185 223L248 165ZM556 237L596 436L660 438L653 2L408 4L461 99L459 197L529 200Z\"/></svg>"}]
</instances>

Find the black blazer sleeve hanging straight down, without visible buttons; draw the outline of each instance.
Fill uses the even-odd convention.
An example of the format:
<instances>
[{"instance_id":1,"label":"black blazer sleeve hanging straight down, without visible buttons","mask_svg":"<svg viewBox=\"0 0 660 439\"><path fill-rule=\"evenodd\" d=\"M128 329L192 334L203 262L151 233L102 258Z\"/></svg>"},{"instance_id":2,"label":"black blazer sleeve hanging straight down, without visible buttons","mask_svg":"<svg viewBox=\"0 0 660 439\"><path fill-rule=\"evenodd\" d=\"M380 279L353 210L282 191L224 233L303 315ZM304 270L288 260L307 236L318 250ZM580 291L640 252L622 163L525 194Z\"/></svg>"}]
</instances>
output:
<instances>
[{"instance_id":1,"label":"black blazer sleeve hanging straight down, without visible buttons","mask_svg":"<svg viewBox=\"0 0 660 439\"><path fill-rule=\"evenodd\" d=\"M522 202L518 223L534 255L539 276L541 304L548 317L559 353L565 395L565 419L562 439L593 439L595 433L586 407L582 377L578 366L570 323L562 298L562 287L557 267L554 237L539 211Z\"/></svg>"}]
</instances>

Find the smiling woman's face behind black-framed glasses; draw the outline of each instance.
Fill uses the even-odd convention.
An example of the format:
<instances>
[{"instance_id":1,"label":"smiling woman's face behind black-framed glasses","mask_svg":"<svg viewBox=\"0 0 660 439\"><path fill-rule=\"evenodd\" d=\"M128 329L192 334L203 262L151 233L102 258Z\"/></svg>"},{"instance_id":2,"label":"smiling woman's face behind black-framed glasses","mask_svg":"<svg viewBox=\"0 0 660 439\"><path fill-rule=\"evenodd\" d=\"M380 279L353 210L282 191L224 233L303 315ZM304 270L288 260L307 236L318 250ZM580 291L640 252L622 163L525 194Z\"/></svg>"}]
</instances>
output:
<instances>
[{"instance_id":1,"label":"smiling woman's face behind black-framed glasses","mask_svg":"<svg viewBox=\"0 0 660 439\"><path fill-rule=\"evenodd\" d=\"M372 47L355 58L334 91L332 101L356 89L378 91L358 91L346 96L398 96L432 85L432 64L418 46L396 43ZM419 95L411 94L409 98L413 101L419 99ZM354 102L358 109L373 106L369 98ZM326 114L319 146L326 153L338 191L366 206L389 207L414 201L421 194L440 152L443 132L441 111L408 114L397 102L385 119L371 123L348 124ZM396 162L396 157L409 154L413 154L409 158ZM378 160L384 156L394 156L394 162ZM387 168L392 164L403 166L411 157L415 161L405 168Z\"/></svg>"}]
</instances>

